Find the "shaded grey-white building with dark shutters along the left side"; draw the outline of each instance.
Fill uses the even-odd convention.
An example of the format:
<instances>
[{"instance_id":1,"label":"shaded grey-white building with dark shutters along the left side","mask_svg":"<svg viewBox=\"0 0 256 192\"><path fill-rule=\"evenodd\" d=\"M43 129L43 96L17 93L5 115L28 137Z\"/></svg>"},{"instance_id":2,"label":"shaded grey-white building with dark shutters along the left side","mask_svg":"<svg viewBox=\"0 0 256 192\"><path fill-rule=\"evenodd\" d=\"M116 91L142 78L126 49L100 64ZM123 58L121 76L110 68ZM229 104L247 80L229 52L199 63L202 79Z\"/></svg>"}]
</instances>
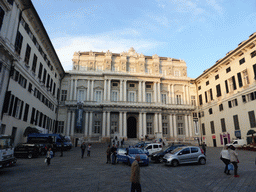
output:
<instances>
[{"instance_id":1,"label":"shaded grey-white building with dark shutters along the left side","mask_svg":"<svg viewBox=\"0 0 256 192\"><path fill-rule=\"evenodd\" d=\"M0 134L26 141L26 127L57 132L64 70L31 0L0 1Z\"/></svg>"}]
</instances>

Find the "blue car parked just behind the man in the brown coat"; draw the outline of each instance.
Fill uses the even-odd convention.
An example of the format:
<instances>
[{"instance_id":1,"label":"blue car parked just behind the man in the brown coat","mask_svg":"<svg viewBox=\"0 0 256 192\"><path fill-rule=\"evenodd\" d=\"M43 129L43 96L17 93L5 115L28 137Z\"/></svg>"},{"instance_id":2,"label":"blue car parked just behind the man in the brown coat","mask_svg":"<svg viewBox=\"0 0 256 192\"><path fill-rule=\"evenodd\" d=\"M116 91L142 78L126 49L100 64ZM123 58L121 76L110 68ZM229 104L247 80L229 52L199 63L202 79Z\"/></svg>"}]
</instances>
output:
<instances>
[{"instance_id":1,"label":"blue car parked just behind the man in the brown coat","mask_svg":"<svg viewBox=\"0 0 256 192\"><path fill-rule=\"evenodd\" d=\"M127 163L128 165L131 165L135 161L136 155L140 156L139 164L149 164L148 156L140 148L118 148L116 162L124 162Z\"/></svg>"}]
</instances>

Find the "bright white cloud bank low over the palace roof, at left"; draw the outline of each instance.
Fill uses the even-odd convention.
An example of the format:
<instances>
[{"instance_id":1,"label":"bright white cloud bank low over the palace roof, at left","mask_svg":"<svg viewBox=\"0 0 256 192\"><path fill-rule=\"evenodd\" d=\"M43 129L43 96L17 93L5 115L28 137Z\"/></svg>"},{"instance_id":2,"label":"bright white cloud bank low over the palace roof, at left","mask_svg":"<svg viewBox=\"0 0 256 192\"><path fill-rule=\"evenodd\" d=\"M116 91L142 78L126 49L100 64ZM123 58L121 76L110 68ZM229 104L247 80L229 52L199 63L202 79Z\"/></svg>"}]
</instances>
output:
<instances>
[{"instance_id":1,"label":"bright white cloud bank low over the palace roof, at left","mask_svg":"<svg viewBox=\"0 0 256 192\"><path fill-rule=\"evenodd\" d=\"M62 36L52 40L63 68L67 70L72 69L72 58L74 52L106 52L110 50L112 53L121 53L128 51L130 47L138 53L146 54L148 50L156 49L163 45L164 42L154 40L147 40L143 38L125 38L122 35L127 33L137 34L136 30L124 30L123 32L112 32L107 34L93 35L93 36ZM119 34L119 35L118 35Z\"/></svg>"}]
</instances>

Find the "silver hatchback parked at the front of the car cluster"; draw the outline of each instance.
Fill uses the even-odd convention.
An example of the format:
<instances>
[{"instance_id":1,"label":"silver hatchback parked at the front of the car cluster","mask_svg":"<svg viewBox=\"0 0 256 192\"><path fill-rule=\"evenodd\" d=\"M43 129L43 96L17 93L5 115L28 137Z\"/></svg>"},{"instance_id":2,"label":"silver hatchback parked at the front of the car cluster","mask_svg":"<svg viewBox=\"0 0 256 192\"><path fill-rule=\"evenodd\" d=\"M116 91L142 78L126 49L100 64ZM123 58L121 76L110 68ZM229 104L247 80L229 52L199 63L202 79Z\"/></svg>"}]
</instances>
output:
<instances>
[{"instance_id":1,"label":"silver hatchback parked at the front of the car cluster","mask_svg":"<svg viewBox=\"0 0 256 192\"><path fill-rule=\"evenodd\" d=\"M174 167L186 163L199 163L205 165L206 157L201 148L196 146L184 146L178 147L172 152L165 154L163 162L165 165L172 165Z\"/></svg>"}]
</instances>

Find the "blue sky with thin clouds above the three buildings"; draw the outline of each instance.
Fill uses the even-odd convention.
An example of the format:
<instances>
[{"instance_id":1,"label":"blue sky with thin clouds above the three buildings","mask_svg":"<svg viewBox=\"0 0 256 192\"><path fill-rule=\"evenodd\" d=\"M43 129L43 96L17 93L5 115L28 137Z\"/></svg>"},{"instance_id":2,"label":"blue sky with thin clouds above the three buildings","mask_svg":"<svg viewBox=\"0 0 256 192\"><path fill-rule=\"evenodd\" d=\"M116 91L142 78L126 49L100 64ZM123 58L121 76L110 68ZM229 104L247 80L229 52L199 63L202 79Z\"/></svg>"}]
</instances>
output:
<instances>
[{"instance_id":1,"label":"blue sky with thin clouds above the three buildings","mask_svg":"<svg viewBox=\"0 0 256 192\"><path fill-rule=\"evenodd\" d=\"M66 71L74 52L182 59L196 78L256 32L255 0L32 0Z\"/></svg>"}]
</instances>

